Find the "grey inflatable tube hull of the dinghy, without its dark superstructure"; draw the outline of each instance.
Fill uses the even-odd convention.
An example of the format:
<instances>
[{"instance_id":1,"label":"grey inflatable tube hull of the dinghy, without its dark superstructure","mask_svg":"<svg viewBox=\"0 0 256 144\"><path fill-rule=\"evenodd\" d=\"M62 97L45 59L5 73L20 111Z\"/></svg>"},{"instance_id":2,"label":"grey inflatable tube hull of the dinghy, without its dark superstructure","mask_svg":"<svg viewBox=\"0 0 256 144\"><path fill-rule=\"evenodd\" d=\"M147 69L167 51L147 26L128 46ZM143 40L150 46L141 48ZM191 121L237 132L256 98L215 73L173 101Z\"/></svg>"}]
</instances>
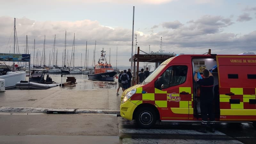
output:
<instances>
[{"instance_id":1,"label":"grey inflatable tube hull of the dinghy, without its dark superstructure","mask_svg":"<svg viewBox=\"0 0 256 144\"><path fill-rule=\"evenodd\" d=\"M49 89L59 85L60 84L58 83L53 83L53 84L39 84L35 82L28 83L28 81L20 81L16 83L16 87L18 89L30 89L30 90L45 90L45 89Z\"/></svg>"}]
</instances>

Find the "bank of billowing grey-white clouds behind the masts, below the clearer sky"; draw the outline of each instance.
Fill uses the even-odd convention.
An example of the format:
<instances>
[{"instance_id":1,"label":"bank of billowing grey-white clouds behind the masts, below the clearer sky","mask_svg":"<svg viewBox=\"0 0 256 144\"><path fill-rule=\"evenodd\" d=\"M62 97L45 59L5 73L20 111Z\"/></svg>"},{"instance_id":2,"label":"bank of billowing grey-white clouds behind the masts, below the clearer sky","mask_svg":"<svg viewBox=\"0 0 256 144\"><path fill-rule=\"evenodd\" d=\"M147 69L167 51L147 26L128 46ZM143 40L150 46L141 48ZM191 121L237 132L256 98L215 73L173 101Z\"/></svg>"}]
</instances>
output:
<instances>
[{"instance_id":1,"label":"bank of billowing grey-white clouds behind the masts, below the clearer sky","mask_svg":"<svg viewBox=\"0 0 256 144\"><path fill-rule=\"evenodd\" d=\"M21 20L22 19L22 20ZM76 60L79 61L81 53L84 57L85 42L88 41L89 64L92 63L93 50L96 42L96 58L100 56L100 49L104 47L106 52L111 47L111 61L116 60L116 46L118 47L118 65L129 65L127 62L131 57L131 29L108 28L101 26L98 21L81 20L70 21L33 21L27 18L17 19L17 32L20 44L20 50L24 51L26 46L26 34L28 35L29 52L33 55L33 43L36 39L36 52L42 52L44 35L46 35L46 55L52 51L54 34L56 34L56 48L58 49L58 60L61 65L62 52L64 49L65 30L67 30L67 49L69 55L72 49L74 33L76 34ZM33 25L33 23L35 23ZM148 52L148 45L151 51L158 51L160 47L160 38L163 37L165 52L202 54L212 49L212 53L217 54L238 54L245 51L256 53L256 31L246 35L237 35L235 33L223 33L223 29L232 25L231 19L221 16L202 16L197 20L190 20L186 25L175 29L165 29L157 33L138 36L138 45L140 49ZM33 26L32 26L33 25ZM13 29L13 18L0 17L0 52L12 51L12 40L8 40ZM135 42L134 42L135 43ZM11 49L10 49L11 46ZM135 44L134 44L135 46ZM133 47L134 52L135 48ZM107 56L108 53L106 53ZM77 58L78 57L78 58ZM84 58L83 58L84 59ZM77 62L78 63L78 62Z\"/></svg>"}]
</instances>

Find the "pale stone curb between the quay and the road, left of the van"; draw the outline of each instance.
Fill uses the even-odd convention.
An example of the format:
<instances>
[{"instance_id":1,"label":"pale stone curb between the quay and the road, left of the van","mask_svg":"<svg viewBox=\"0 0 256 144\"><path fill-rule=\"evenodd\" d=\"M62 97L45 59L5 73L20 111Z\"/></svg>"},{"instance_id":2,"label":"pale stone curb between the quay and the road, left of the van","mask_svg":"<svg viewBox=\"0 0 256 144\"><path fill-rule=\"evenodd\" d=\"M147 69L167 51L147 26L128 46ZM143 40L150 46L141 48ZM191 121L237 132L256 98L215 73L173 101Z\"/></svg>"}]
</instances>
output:
<instances>
[{"instance_id":1,"label":"pale stone curb between the quay and the road, left of the van","mask_svg":"<svg viewBox=\"0 0 256 144\"><path fill-rule=\"evenodd\" d=\"M28 107L0 107L0 112L7 113L47 113L47 111L59 110L60 108L28 108ZM71 110L73 108L65 108L65 110ZM74 114L81 113L97 113L97 114L120 114L120 110L117 109L75 109Z\"/></svg>"}]
</instances>

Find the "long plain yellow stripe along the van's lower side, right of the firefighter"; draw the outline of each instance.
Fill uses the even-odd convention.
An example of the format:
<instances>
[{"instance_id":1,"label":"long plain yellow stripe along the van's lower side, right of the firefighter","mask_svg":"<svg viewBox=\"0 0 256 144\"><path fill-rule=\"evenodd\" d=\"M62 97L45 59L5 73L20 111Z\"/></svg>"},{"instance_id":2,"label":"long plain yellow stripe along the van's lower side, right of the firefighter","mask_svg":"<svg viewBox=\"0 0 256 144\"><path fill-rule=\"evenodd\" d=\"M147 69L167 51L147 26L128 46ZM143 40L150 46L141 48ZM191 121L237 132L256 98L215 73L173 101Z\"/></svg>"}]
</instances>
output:
<instances>
[{"instance_id":1,"label":"long plain yellow stripe along the van's lower side, right of the firefighter","mask_svg":"<svg viewBox=\"0 0 256 144\"><path fill-rule=\"evenodd\" d=\"M256 109L220 109L221 116L255 116Z\"/></svg>"}]
</instances>

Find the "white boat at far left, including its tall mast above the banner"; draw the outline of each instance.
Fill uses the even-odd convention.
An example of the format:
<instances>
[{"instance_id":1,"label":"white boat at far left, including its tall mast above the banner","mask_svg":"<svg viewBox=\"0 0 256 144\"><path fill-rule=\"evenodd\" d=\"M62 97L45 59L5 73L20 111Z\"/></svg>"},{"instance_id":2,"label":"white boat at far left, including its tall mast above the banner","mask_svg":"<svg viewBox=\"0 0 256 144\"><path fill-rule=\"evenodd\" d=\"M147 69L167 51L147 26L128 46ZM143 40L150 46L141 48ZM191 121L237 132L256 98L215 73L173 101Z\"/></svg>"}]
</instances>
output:
<instances>
[{"instance_id":1,"label":"white boat at far left, including its tall mast above the banner","mask_svg":"<svg viewBox=\"0 0 256 144\"><path fill-rule=\"evenodd\" d=\"M13 41L13 53L15 53L15 43L18 42L16 38L16 18L14 18L14 41ZM8 57L1 57L0 60L11 60ZM13 62L14 68L14 62ZM25 71L14 71L10 66L6 65L5 62L0 62L0 79L5 80L5 89L14 88L17 82L26 80Z\"/></svg>"}]
</instances>

